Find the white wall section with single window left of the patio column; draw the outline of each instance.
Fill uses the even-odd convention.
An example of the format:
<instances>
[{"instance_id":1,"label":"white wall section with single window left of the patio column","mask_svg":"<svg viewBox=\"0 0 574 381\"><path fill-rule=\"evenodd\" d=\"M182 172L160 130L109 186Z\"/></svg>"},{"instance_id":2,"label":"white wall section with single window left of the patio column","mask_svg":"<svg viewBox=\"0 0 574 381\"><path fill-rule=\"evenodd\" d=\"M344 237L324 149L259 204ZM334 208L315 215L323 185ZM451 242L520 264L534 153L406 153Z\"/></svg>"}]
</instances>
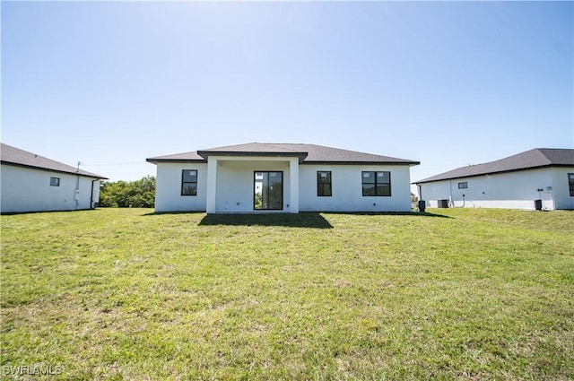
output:
<instances>
[{"instance_id":1,"label":"white wall section with single window left of the patio column","mask_svg":"<svg viewBox=\"0 0 574 381\"><path fill-rule=\"evenodd\" d=\"M181 195L181 173L184 169L197 170L197 195ZM205 212L206 163L158 163L155 184L156 212Z\"/></svg>"}]
</instances>

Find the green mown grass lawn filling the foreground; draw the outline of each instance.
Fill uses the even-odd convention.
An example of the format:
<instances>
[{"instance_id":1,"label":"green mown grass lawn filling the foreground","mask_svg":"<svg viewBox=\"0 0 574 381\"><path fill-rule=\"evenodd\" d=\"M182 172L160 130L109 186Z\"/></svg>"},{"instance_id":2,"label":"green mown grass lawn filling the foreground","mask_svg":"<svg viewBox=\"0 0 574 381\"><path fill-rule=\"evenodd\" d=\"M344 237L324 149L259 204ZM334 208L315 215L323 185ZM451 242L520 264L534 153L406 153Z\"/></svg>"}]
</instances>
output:
<instances>
[{"instance_id":1,"label":"green mown grass lawn filling the foreground","mask_svg":"<svg viewBox=\"0 0 574 381\"><path fill-rule=\"evenodd\" d=\"M428 212L4 215L2 377L573 379L574 212Z\"/></svg>"}]
</instances>

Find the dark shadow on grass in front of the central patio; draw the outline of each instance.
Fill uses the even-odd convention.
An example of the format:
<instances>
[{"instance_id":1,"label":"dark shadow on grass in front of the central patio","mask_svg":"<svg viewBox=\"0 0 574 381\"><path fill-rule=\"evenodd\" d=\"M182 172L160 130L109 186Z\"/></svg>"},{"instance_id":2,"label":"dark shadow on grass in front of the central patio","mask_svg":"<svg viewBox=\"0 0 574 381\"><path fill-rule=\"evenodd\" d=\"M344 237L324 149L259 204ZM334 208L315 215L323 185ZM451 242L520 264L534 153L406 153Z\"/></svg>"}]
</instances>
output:
<instances>
[{"instance_id":1,"label":"dark shadow on grass in front of the central patio","mask_svg":"<svg viewBox=\"0 0 574 381\"><path fill-rule=\"evenodd\" d=\"M270 214L207 214L200 226L285 226L290 228L333 229L333 225L317 212Z\"/></svg>"}]
</instances>

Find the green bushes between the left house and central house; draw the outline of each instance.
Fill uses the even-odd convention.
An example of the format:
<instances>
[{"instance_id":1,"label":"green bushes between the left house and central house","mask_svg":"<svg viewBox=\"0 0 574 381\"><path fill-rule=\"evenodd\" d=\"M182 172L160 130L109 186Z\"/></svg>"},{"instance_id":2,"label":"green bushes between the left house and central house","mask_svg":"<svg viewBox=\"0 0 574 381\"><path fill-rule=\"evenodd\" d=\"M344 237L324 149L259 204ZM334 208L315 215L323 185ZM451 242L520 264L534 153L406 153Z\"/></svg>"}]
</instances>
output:
<instances>
[{"instance_id":1,"label":"green bushes between the left house and central house","mask_svg":"<svg viewBox=\"0 0 574 381\"><path fill-rule=\"evenodd\" d=\"M155 177L135 181L102 181L100 206L111 208L152 208L155 200Z\"/></svg>"}]
</instances>

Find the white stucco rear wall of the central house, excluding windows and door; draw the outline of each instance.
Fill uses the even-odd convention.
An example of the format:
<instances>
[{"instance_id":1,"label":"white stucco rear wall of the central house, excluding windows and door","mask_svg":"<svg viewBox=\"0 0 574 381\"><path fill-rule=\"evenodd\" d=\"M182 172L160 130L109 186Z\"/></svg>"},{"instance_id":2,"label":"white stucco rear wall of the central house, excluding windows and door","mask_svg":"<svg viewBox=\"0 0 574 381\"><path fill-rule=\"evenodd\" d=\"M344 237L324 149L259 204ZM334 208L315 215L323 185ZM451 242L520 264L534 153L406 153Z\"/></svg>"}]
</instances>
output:
<instances>
[{"instance_id":1,"label":"white stucco rear wall of the central house, excluding windows and door","mask_svg":"<svg viewBox=\"0 0 574 381\"><path fill-rule=\"evenodd\" d=\"M310 165L297 158L214 157L206 163L157 163L156 212L254 211L254 172L283 171L280 212L410 212L410 168L406 165ZM197 169L197 195L181 195L181 171ZM332 196L317 196L317 170L332 172ZM362 171L389 171L391 196L363 196ZM215 179L208 178L215 173ZM211 202L208 195L213 189Z\"/></svg>"}]
</instances>

